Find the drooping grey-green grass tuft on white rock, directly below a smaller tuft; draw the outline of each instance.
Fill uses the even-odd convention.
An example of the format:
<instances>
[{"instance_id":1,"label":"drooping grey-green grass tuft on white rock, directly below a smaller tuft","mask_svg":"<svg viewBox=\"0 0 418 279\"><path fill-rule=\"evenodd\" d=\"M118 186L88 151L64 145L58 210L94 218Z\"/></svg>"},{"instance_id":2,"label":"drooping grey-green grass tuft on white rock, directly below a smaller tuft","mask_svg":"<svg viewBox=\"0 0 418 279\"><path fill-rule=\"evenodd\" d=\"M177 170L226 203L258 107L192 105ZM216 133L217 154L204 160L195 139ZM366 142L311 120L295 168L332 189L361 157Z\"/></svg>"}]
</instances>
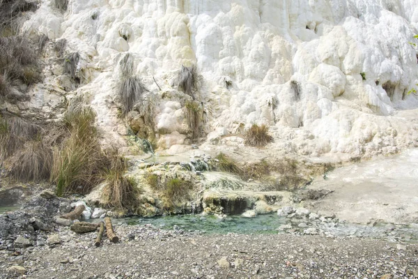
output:
<instances>
[{"instance_id":1,"label":"drooping grey-green grass tuft on white rock, directly below a smaller tuft","mask_svg":"<svg viewBox=\"0 0 418 279\"><path fill-rule=\"evenodd\" d=\"M116 85L116 93L121 99L122 114L125 116L132 111L135 103L147 89L139 77L125 77Z\"/></svg>"}]
</instances>

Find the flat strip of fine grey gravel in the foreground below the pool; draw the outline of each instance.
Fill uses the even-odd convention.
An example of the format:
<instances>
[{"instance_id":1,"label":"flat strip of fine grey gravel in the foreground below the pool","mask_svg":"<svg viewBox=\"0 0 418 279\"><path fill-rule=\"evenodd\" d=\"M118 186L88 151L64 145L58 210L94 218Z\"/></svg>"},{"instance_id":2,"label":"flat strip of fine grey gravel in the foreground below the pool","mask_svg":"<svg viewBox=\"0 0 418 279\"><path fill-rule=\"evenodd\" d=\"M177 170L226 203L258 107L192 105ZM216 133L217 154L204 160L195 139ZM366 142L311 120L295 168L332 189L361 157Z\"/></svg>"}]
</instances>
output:
<instances>
[{"instance_id":1,"label":"flat strip of fine grey gravel in the foreground below the pool","mask_svg":"<svg viewBox=\"0 0 418 279\"><path fill-rule=\"evenodd\" d=\"M95 233L62 227L56 232L61 244L1 250L0 278L13 278L13 265L25 269L21 278L418 278L417 244L115 229L120 243L104 237L100 248L93 246Z\"/></svg>"}]
</instances>

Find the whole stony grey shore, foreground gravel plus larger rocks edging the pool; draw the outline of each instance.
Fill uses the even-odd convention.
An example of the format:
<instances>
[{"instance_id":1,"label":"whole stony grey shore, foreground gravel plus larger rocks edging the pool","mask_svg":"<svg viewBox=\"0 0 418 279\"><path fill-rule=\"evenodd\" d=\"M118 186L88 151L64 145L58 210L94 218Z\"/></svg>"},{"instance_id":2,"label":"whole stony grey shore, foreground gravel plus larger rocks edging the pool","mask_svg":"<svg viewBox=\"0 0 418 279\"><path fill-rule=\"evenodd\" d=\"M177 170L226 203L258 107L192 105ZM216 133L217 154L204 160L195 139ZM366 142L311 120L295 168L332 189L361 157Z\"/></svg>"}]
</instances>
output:
<instances>
[{"instance_id":1,"label":"whole stony grey shore, foreground gravel plus larger rocks edging the pool","mask_svg":"<svg viewBox=\"0 0 418 279\"><path fill-rule=\"evenodd\" d=\"M116 223L120 241L76 234L59 224L77 203L48 190L0 216L1 278L416 278L418 245L341 237L335 216L285 206L279 234L205 234L178 226ZM94 211L93 211L94 212ZM105 213L96 210L95 217ZM88 214L90 217L91 213ZM228 222L227 216L218 216ZM71 223L68 222L68 223ZM369 224L373 227L376 224ZM321 227L322 226L322 227ZM284 233L285 232L285 233ZM396 236L396 226L385 228ZM406 239L408 241L408 239ZM412 241L413 242L413 241ZM386 277L385 277L386 276Z\"/></svg>"}]
</instances>

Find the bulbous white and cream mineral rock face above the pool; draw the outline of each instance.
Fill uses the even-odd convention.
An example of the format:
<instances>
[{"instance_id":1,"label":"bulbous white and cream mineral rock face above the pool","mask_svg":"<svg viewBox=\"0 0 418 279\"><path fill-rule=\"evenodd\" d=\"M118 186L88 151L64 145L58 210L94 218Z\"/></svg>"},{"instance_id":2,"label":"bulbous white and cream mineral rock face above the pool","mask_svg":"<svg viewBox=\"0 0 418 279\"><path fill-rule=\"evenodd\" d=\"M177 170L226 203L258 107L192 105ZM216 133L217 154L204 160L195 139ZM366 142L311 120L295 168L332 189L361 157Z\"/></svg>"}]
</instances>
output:
<instances>
[{"instance_id":1,"label":"bulbous white and cream mineral rock face above the pool","mask_svg":"<svg viewBox=\"0 0 418 279\"><path fill-rule=\"evenodd\" d=\"M155 95L164 149L187 144L184 94L173 78L192 63L203 76L196 100L208 144L253 123L270 126L274 144L311 156L372 156L416 143L417 125L399 115L418 107L406 94L418 83L408 45L418 33L415 0L70 0L64 14L50 2L24 28L65 38L66 52L80 53L77 93L91 97L108 142L123 143L114 84L129 52ZM36 91L37 107L56 101L47 89ZM295 144L286 137L293 130L309 136Z\"/></svg>"}]
</instances>

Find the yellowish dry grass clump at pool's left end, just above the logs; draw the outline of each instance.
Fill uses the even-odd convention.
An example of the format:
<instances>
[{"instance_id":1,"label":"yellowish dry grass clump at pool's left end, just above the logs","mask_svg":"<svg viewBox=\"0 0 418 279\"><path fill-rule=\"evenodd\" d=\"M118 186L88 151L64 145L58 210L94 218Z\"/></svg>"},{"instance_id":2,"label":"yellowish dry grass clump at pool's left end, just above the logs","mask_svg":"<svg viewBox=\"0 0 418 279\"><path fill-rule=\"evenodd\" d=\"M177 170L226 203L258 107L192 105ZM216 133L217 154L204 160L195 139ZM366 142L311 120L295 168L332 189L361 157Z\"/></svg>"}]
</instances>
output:
<instances>
[{"instance_id":1,"label":"yellowish dry grass clump at pool's left end, just above the logs","mask_svg":"<svg viewBox=\"0 0 418 279\"><path fill-rule=\"evenodd\" d=\"M125 158L117 153L109 157L110 165L106 171L106 187L103 195L109 206L117 209L134 209L138 205L139 188L134 179L125 176Z\"/></svg>"}]
</instances>

